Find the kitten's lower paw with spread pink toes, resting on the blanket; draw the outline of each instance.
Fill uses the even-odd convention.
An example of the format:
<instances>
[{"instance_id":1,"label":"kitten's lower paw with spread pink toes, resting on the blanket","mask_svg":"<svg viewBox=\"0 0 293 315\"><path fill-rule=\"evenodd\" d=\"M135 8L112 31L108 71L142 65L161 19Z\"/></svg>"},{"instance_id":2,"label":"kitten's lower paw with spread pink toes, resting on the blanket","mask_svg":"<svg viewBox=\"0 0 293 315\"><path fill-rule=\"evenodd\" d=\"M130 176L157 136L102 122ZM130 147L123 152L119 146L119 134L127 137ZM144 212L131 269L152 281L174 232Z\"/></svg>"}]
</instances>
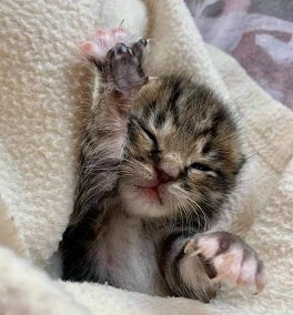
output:
<instances>
[{"instance_id":1,"label":"kitten's lower paw with spread pink toes, resting on the blanket","mask_svg":"<svg viewBox=\"0 0 293 315\"><path fill-rule=\"evenodd\" d=\"M226 232L196 234L184 247L186 256L199 256L214 271L214 282L229 282L236 286L255 286L261 292L265 285L262 261L239 236Z\"/></svg>"}]
</instances>

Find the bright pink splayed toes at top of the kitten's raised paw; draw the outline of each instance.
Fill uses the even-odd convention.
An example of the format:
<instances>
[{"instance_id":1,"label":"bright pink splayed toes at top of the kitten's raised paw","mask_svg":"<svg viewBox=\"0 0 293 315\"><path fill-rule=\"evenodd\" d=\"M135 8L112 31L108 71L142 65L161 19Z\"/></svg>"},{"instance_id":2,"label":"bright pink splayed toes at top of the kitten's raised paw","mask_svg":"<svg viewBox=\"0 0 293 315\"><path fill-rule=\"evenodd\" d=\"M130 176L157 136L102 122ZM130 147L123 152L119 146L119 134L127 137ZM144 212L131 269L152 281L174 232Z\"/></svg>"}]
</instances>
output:
<instances>
[{"instance_id":1,"label":"bright pink splayed toes at top of the kitten's raised paw","mask_svg":"<svg viewBox=\"0 0 293 315\"><path fill-rule=\"evenodd\" d=\"M92 57L99 61L103 61L108 51L118 43L124 43L125 45L132 43L131 35L123 27L112 30L98 30L92 40L80 44L80 50L85 57Z\"/></svg>"}]
</instances>

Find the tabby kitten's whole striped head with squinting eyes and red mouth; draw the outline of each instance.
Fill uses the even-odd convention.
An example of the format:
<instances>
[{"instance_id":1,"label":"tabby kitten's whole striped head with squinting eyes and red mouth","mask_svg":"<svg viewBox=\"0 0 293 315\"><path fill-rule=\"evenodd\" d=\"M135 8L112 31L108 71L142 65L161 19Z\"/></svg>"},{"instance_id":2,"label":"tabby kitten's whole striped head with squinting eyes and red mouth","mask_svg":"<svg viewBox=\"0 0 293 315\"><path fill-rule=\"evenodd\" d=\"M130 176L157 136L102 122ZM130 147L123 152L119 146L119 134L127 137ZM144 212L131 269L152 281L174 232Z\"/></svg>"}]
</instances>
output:
<instances>
[{"instance_id":1,"label":"tabby kitten's whole striped head with squinting eyes and red mouth","mask_svg":"<svg viewBox=\"0 0 293 315\"><path fill-rule=\"evenodd\" d=\"M158 79L133 108L119 189L127 211L141 217L204 219L242 163L235 124L216 98L182 79Z\"/></svg>"}]
</instances>

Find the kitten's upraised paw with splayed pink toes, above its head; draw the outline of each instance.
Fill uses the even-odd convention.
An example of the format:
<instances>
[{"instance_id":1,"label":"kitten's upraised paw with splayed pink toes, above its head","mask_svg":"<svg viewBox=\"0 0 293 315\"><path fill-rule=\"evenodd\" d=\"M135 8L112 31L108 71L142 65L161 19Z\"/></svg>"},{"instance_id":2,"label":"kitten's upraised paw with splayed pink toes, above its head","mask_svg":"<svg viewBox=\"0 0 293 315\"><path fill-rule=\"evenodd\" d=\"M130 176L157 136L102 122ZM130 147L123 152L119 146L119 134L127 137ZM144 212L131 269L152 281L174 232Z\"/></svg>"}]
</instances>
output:
<instances>
[{"instance_id":1,"label":"kitten's upraised paw with splayed pink toes, above its head","mask_svg":"<svg viewBox=\"0 0 293 315\"><path fill-rule=\"evenodd\" d=\"M145 39L134 42L120 27L109 31L99 30L92 41L81 44L81 50L94 61L113 95L128 98L148 83L149 79L142 69L146 45Z\"/></svg>"}]
</instances>

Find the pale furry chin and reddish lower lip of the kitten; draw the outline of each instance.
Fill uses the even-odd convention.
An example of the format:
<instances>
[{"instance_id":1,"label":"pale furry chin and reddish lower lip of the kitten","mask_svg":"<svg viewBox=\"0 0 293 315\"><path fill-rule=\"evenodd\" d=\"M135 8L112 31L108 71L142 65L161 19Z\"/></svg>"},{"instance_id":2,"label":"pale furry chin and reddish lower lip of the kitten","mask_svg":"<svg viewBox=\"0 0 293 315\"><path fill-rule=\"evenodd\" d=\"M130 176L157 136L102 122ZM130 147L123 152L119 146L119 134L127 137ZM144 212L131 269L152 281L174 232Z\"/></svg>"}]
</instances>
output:
<instances>
[{"instance_id":1,"label":"pale furry chin and reddish lower lip of the kitten","mask_svg":"<svg viewBox=\"0 0 293 315\"><path fill-rule=\"evenodd\" d=\"M151 187L120 185L125 211L140 217L171 215L171 206L163 193Z\"/></svg>"}]
</instances>

